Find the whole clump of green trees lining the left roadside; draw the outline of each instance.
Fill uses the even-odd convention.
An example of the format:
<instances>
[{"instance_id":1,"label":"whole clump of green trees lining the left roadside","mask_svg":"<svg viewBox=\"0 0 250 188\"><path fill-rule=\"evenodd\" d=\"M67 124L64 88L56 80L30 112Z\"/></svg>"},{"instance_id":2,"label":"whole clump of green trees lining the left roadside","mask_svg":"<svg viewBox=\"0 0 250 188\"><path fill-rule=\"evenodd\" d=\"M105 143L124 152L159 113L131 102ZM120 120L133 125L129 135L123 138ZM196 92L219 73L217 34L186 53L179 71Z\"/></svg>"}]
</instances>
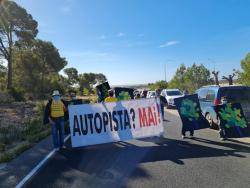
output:
<instances>
[{"instance_id":1,"label":"whole clump of green trees lining the left roadside","mask_svg":"<svg viewBox=\"0 0 250 188\"><path fill-rule=\"evenodd\" d=\"M14 1L0 2L1 92L15 101L46 99L55 89L91 94L93 85L107 80L103 74L65 68L68 62L53 43L36 38L38 23L32 15ZM63 69L66 76L59 74Z\"/></svg>"}]
</instances>

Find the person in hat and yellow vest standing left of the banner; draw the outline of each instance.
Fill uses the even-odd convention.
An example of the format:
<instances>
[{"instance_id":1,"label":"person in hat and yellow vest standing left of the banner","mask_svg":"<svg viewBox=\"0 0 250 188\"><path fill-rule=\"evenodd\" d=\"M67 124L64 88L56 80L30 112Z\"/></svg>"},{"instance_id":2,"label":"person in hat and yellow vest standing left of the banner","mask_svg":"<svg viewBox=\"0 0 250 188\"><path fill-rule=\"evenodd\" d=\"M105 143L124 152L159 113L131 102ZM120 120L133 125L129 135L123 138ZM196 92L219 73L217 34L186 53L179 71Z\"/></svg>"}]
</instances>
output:
<instances>
[{"instance_id":1,"label":"person in hat and yellow vest standing left of the banner","mask_svg":"<svg viewBox=\"0 0 250 188\"><path fill-rule=\"evenodd\" d=\"M44 123L51 124L54 148L58 151L64 148L64 115L66 107L61 100L59 91L55 90L45 108Z\"/></svg>"}]
</instances>

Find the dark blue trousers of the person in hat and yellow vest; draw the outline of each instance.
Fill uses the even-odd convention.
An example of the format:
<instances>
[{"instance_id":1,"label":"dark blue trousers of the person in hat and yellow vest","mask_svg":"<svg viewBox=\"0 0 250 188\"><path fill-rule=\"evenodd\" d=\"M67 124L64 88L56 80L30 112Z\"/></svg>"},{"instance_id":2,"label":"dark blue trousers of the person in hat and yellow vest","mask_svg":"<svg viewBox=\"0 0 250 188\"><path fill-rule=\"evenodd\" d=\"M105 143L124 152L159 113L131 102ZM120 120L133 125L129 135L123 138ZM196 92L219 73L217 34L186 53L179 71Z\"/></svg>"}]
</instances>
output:
<instances>
[{"instance_id":1,"label":"dark blue trousers of the person in hat and yellow vest","mask_svg":"<svg viewBox=\"0 0 250 188\"><path fill-rule=\"evenodd\" d=\"M62 148L64 144L64 117L52 118L51 133L54 148Z\"/></svg>"}]
</instances>

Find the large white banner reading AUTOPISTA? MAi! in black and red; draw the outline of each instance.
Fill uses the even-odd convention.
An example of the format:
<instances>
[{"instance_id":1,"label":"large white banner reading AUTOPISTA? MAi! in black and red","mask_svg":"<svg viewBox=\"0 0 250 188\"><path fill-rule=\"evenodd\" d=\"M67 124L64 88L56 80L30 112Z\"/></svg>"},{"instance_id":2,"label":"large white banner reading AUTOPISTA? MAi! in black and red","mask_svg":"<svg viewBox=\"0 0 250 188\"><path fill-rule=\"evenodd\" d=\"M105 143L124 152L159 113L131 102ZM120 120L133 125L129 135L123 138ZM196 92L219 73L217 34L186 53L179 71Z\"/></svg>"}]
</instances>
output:
<instances>
[{"instance_id":1,"label":"large white banner reading AUTOPISTA? MAi! in black and red","mask_svg":"<svg viewBox=\"0 0 250 188\"><path fill-rule=\"evenodd\" d=\"M163 133L160 101L156 98L69 106L72 147Z\"/></svg>"}]
</instances>

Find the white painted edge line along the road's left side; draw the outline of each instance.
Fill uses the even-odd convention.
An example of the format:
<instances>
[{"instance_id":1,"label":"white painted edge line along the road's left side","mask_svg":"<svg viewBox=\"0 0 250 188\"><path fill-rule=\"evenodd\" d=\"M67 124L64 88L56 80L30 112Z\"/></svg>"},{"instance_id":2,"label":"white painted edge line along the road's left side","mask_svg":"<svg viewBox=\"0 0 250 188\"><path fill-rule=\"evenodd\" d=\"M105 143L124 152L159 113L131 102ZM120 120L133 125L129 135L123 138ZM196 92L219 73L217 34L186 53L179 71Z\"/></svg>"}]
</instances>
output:
<instances>
[{"instance_id":1,"label":"white painted edge line along the road's left side","mask_svg":"<svg viewBox=\"0 0 250 188\"><path fill-rule=\"evenodd\" d=\"M66 138L64 139L64 142L66 142L69 139L70 135L66 136ZM35 168L33 168L29 174L27 174L22 181L20 181L17 185L16 188L21 188L24 186L24 184L32 177L34 176L35 173L37 173L37 171L47 162L47 160L52 157L55 154L56 150L53 149L42 161L40 161L38 163L38 165L35 166Z\"/></svg>"}]
</instances>

